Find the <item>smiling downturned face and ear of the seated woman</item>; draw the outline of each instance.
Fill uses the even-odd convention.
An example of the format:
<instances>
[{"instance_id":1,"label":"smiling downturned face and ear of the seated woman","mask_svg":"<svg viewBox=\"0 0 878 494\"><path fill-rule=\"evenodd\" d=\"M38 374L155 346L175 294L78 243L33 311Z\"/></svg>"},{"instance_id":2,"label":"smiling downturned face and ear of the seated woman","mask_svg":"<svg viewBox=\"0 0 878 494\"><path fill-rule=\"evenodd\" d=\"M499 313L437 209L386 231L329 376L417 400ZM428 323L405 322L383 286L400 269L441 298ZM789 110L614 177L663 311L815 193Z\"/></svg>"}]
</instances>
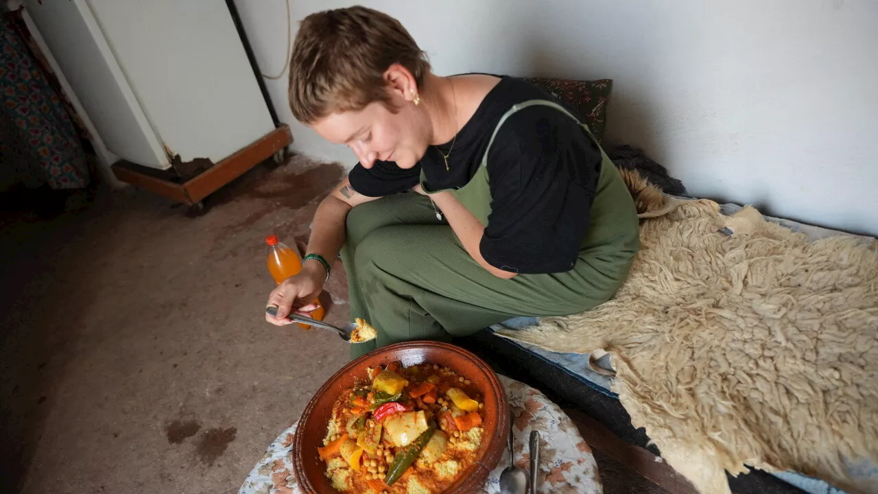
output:
<instances>
[{"instance_id":1,"label":"smiling downturned face and ear of the seated woman","mask_svg":"<svg viewBox=\"0 0 878 494\"><path fill-rule=\"evenodd\" d=\"M383 103L373 102L356 112L332 113L311 126L329 142L347 144L365 168L376 160L392 161L399 168L412 168L427 152L430 120L424 105L414 105L414 78L394 64L385 72L392 113Z\"/></svg>"}]
</instances>

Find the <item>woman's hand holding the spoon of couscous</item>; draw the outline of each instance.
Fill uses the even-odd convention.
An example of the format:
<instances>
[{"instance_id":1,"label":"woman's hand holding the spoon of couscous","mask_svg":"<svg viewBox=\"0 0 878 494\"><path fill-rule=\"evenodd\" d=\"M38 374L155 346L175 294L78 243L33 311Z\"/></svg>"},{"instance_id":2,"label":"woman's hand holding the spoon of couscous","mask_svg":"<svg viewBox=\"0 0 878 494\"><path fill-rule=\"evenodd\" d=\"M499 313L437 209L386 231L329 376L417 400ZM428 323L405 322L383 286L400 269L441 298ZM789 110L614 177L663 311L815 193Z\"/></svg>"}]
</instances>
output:
<instances>
[{"instance_id":1,"label":"woman's hand holding the spoon of couscous","mask_svg":"<svg viewBox=\"0 0 878 494\"><path fill-rule=\"evenodd\" d=\"M326 275L320 263L305 263L299 274L287 278L277 285L277 288L271 290L268 305L277 305L277 316L266 313L265 320L277 326L284 326L292 323L286 316L293 311L301 316L311 316L310 312L317 309L314 299L323 289Z\"/></svg>"}]
</instances>

